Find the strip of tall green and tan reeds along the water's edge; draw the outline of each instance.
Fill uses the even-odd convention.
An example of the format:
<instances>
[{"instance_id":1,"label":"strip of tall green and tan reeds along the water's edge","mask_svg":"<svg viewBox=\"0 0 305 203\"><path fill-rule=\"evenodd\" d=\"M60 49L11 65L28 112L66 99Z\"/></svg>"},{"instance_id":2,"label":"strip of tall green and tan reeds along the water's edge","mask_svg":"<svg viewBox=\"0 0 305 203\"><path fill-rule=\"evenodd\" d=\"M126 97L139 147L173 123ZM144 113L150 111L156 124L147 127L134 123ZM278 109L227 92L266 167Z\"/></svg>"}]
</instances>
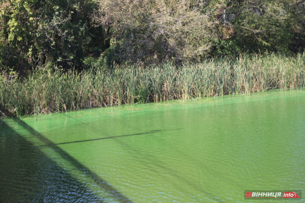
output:
<instances>
[{"instance_id":1,"label":"strip of tall green and tan reeds along the water's edge","mask_svg":"<svg viewBox=\"0 0 305 203\"><path fill-rule=\"evenodd\" d=\"M103 71L0 75L0 114L21 116L109 105L305 87L305 54L244 56L202 63L119 66Z\"/></svg>"}]
</instances>

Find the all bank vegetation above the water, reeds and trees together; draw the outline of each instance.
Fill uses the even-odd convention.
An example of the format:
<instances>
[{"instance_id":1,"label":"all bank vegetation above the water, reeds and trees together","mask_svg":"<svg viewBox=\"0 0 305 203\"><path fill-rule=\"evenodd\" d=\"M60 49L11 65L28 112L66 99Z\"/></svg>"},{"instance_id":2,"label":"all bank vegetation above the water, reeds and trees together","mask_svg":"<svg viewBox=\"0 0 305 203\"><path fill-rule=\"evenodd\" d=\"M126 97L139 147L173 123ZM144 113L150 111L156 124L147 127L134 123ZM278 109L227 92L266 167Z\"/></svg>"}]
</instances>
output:
<instances>
[{"instance_id":1,"label":"all bank vegetation above the water, reeds and trees together","mask_svg":"<svg viewBox=\"0 0 305 203\"><path fill-rule=\"evenodd\" d=\"M304 0L0 1L0 117L304 88Z\"/></svg>"}]
</instances>

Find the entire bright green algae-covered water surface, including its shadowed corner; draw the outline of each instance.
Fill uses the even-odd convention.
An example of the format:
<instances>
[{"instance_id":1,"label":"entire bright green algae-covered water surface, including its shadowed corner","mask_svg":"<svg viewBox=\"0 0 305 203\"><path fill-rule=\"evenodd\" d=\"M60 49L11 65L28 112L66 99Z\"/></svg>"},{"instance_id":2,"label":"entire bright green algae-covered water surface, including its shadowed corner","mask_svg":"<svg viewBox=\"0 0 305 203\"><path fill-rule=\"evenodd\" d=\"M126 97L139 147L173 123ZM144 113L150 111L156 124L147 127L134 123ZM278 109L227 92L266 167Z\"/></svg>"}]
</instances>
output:
<instances>
[{"instance_id":1,"label":"entire bright green algae-covered water surface, including its shadowed corner","mask_svg":"<svg viewBox=\"0 0 305 203\"><path fill-rule=\"evenodd\" d=\"M305 91L0 121L0 202L263 202L305 190ZM272 199L266 202L304 202Z\"/></svg>"}]
</instances>

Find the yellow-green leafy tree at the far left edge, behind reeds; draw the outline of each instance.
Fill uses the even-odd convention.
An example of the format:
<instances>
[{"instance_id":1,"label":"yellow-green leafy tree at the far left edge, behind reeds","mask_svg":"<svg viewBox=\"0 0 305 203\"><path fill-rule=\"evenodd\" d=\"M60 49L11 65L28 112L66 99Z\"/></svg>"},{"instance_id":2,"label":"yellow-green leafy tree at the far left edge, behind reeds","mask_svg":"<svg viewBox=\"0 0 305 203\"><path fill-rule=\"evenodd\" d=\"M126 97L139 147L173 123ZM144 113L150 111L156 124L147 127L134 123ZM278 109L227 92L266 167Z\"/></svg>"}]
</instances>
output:
<instances>
[{"instance_id":1,"label":"yellow-green leafy tree at the far left edge, behind reeds","mask_svg":"<svg viewBox=\"0 0 305 203\"><path fill-rule=\"evenodd\" d=\"M0 68L23 72L33 62L36 0L0 2Z\"/></svg>"}]
</instances>

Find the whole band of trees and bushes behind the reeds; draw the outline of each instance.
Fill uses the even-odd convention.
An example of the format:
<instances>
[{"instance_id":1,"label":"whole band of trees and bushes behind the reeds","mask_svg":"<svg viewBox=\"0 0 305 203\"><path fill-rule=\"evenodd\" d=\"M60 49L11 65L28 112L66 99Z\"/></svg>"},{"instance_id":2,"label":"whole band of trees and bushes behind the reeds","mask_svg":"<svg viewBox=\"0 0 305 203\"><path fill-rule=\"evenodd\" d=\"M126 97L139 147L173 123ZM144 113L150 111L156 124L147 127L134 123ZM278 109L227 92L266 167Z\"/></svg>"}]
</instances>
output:
<instances>
[{"instance_id":1,"label":"whole band of trees and bushes behind the reeds","mask_svg":"<svg viewBox=\"0 0 305 203\"><path fill-rule=\"evenodd\" d=\"M0 71L302 52L304 0L0 0Z\"/></svg>"}]
</instances>

